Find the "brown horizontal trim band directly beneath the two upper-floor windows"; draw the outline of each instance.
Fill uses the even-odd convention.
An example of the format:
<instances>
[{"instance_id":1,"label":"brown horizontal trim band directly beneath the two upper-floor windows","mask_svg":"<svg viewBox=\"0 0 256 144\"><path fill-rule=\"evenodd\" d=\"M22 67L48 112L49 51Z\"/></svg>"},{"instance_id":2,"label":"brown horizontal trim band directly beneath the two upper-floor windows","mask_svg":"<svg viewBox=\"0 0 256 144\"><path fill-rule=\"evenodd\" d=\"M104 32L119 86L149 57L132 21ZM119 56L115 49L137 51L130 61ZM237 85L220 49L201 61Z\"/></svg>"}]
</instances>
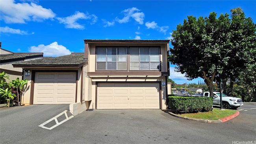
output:
<instances>
[{"instance_id":1,"label":"brown horizontal trim band directly beneath the two upper-floor windows","mask_svg":"<svg viewBox=\"0 0 256 144\"><path fill-rule=\"evenodd\" d=\"M167 72L88 72L88 76L162 76Z\"/></svg>"}]
</instances>

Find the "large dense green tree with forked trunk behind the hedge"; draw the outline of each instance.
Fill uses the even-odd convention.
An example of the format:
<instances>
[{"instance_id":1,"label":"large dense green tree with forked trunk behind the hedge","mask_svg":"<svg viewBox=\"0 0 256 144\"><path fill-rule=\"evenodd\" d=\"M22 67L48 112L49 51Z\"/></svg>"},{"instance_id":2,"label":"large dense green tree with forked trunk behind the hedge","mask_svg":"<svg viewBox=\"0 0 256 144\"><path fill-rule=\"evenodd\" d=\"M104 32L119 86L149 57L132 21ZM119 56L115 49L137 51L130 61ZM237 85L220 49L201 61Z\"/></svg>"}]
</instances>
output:
<instances>
[{"instance_id":1,"label":"large dense green tree with forked trunk behind the hedge","mask_svg":"<svg viewBox=\"0 0 256 144\"><path fill-rule=\"evenodd\" d=\"M188 16L173 31L169 61L175 70L191 80L203 78L213 96L213 82L230 78L235 81L253 60L256 25L240 8L217 18Z\"/></svg>"}]
</instances>

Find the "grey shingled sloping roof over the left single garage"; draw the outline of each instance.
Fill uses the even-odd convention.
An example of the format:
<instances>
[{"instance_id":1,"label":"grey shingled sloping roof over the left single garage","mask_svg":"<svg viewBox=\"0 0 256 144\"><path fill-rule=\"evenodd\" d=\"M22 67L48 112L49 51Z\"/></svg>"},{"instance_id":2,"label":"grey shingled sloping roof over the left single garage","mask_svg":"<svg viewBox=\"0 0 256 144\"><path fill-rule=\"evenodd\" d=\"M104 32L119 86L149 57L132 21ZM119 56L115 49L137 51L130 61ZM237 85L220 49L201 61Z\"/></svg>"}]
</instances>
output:
<instances>
[{"instance_id":1,"label":"grey shingled sloping roof over the left single garage","mask_svg":"<svg viewBox=\"0 0 256 144\"><path fill-rule=\"evenodd\" d=\"M13 66L80 66L87 62L84 54L70 54L60 57L43 57L31 61L14 63Z\"/></svg>"}]
</instances>

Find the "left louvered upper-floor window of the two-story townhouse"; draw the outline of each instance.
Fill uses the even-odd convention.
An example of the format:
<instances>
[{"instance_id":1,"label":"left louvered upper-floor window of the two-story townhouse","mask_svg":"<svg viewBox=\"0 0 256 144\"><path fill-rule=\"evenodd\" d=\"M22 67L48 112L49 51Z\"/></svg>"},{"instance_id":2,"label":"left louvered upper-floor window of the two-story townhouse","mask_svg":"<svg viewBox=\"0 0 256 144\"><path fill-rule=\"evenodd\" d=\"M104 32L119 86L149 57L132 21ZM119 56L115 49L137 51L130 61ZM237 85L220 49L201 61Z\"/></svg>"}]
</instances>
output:
<instances>
[{"instance_id":1,"label":"left louvered upper-floor window of the two-story townhouse","mask_svg":"<svg viewBox=\"0 0 256 144\"><path fill-rule=\"evenodd\" d=\"M96 70L127 70L127 48L98 47Z\"/></svg>"}]
</instances>

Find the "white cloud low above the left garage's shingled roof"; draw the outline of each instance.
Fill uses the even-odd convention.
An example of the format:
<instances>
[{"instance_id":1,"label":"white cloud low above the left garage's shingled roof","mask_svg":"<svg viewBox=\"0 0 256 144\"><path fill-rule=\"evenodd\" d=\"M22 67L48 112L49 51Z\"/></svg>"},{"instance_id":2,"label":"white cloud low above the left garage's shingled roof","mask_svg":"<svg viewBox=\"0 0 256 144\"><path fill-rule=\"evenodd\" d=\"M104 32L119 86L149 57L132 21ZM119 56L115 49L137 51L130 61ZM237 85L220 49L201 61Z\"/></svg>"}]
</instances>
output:
<instances>
[{"instance_id":1,"label":"white cloud low above the left garage's shingled roof","mask_svg":"<svg viewBox=\"0 0 256 144\"><path fill-rule=\"evenodd\" d=\"M44 56L61 56L71 54L70 50L58 42L52 42L49 45L39 44L38 46L31 46L29 52L43 52Z\"/></svg>"}]
</instances>

